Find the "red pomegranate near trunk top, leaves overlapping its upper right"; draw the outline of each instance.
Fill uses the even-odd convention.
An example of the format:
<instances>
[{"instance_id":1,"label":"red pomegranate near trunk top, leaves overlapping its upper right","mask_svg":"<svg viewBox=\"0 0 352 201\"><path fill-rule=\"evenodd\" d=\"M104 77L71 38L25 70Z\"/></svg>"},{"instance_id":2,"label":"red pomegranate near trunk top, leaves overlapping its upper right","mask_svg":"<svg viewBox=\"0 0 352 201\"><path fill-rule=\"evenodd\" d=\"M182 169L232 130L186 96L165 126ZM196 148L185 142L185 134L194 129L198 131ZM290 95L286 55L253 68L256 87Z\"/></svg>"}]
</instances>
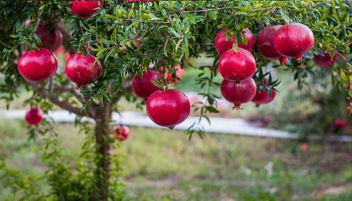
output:
<instances>
[{"instance_id":1,"label":"red pomegranate near trunk top, leaves overlapping its upper right","mask_svg":"<svg viewBox=\"0 0 352 201\"><path fill-rule=\"evenodd\" d=\"M79 88L80 85L96 81L102 74L102 65L99 61L94 62L93 56L82 56L81 53L73 54L66 62L65 73Z\"/></svg>"}]
</instances>

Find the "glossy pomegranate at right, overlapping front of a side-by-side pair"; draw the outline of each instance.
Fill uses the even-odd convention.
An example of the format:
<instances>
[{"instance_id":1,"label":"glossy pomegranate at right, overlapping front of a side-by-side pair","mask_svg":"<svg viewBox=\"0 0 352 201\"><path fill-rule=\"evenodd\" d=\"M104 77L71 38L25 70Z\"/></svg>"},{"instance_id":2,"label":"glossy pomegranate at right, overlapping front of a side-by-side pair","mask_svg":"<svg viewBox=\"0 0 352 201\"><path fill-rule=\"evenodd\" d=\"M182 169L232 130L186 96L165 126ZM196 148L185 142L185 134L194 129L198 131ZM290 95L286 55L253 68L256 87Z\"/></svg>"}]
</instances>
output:
<instances>
[{"instance_id":1,"label":"glossy pomegranate at right, overlapping front of a side-by-side pair","mask_svg":"<svg viewBox=\"0 0 352 201\"><path fill-rule=\"evenodd\" d=\"M313 32L300 23L283 25L274 35L275 49L283 56L302 60L314 45Z\"/></svg>"}]
</instances>

